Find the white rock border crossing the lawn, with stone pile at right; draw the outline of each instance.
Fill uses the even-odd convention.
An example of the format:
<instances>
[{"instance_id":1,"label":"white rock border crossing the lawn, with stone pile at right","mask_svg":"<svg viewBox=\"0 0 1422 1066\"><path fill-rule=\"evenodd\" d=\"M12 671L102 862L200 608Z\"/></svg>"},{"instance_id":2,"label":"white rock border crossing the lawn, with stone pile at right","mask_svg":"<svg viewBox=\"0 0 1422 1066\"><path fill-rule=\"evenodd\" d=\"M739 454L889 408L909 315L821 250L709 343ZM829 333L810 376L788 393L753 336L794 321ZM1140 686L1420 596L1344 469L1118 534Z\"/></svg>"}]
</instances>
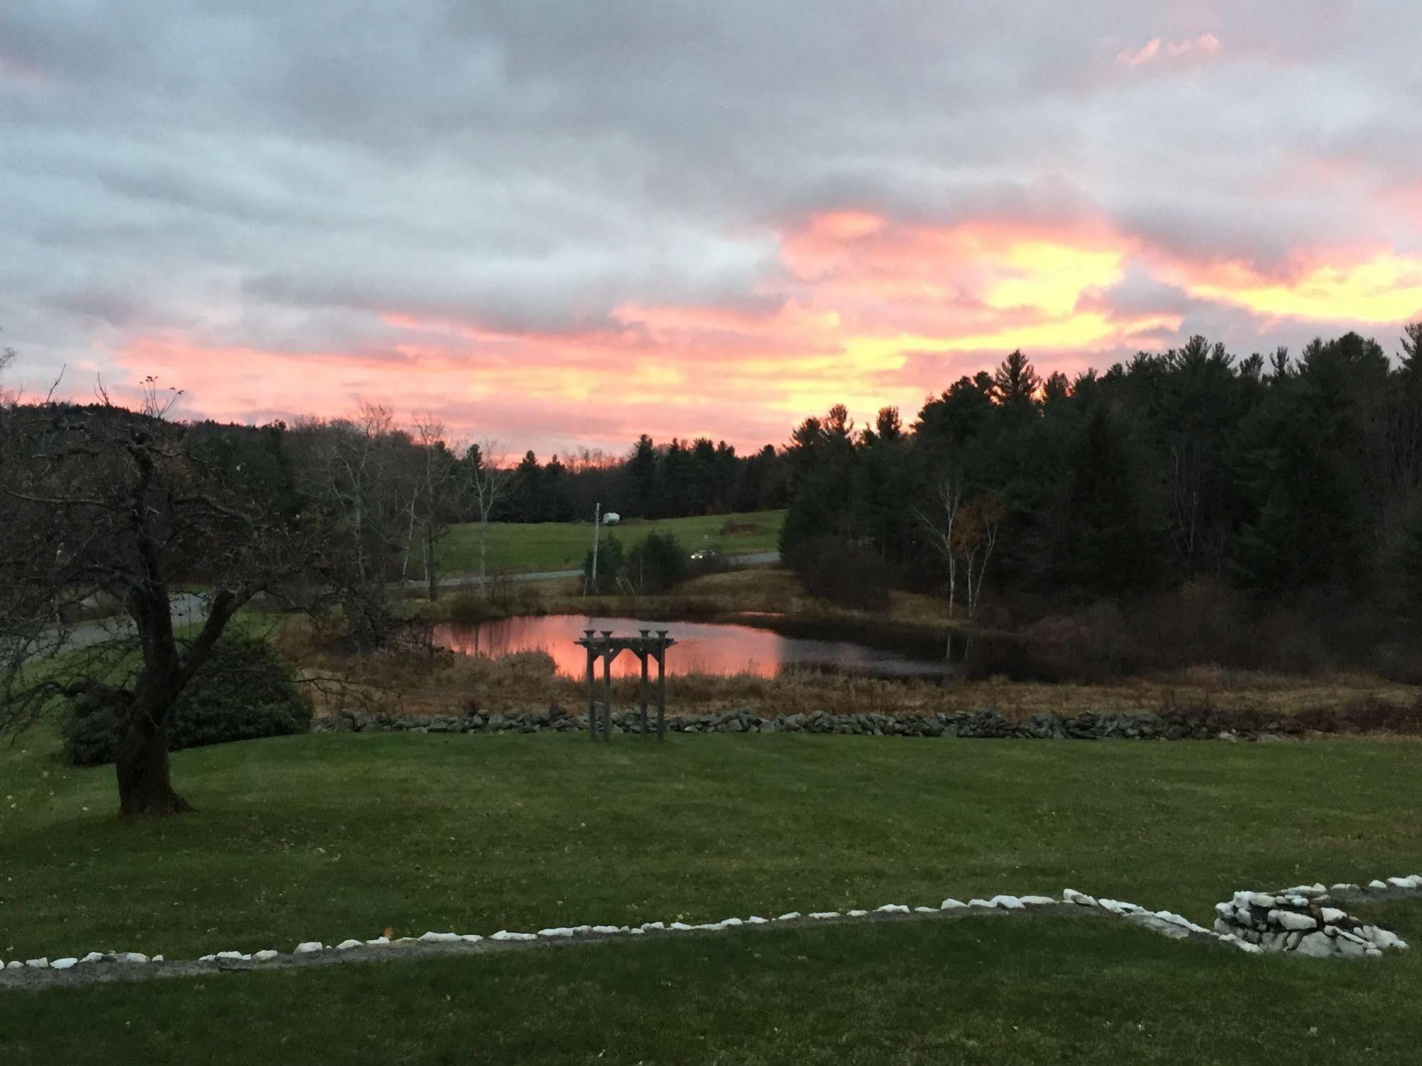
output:
<instances>
[{"instance_id":1,"label":"white rock border crossing the lawn, with stone pile at right","mask_svg":"<svg viewBox=\"0 0 1422 1066\"><path fill-rule=\"evenodd\" d=\"M772 922L802 922L802 924L842 924L846 921L856 920L873 920L873 918L903 918L904 915L929 915L929 914L943 914L946 911L995 911L995 912L1028 912L1041 907L1062 907L1075 905L1086 908L1092 912L1113 915L1129 921L1135 925L1142 925L1153 932L1170 937L1172 940L1194 938L1200 941L1213 941L1239 951L1261 955L1274 951L1295 951L1304 957L1313 958L1367 958L1378 957L1385 951L1402 951L1406 949L1408 944L1401 940L1396 934L1384 930L1381 927L1361 927L1361 922L1351 918L1345 911L1335 907L1324 907L1325 903L1332 903L1335 895L1345 895L1348 898L1361 900L1385 900L1385 898L1418 898L1422 894L1422 874L1408 874L1402 877L1388 877L1388 878L1374 878L1367 884L1367 887L1359 887L1355 883L1338 883L1331 888L1324 887L1322 883L1311 885L1295 885L1293 888L1283 888L1276 893L1254 893L1254 891L1239 891L1234 893L1229 903L1221 903L1216 905L1216 911L1220 915L1227 914L1231 910L1239 910L1241 907L1253 907L1256 910L1267 910L1268 920L1277 924L1280 928L1291 928L1293 925L1300 925L1300 932L1304 932L1303 922L1295 921L1288 917L1291 912L1288 910L1280 910L1280 904L1284 908L1301 908L1313 905L1322 915L1322 921L1327 922L1324 930L1332 930L1327 935L1332 940L1347 941L1347 949L1340 947L1338 949L1322 951L1308 951L1298 949L1298 942L1303 942L1303 937L1298 942L1285 945L1284 940L1280 940L1277 945L1267 947L1258 942L1250 942L1233 931L1226 931L1227 927L1216 920L1216 928L1206 928L1199 925L1189 918L1175 914L1173 911L1150 911L1139 904L1125 903L1122 900L1109 900L1105 897L1094 897L1086 893L1079 893L1075 888L1066 888L1062 891L1061 898L1051 895L994 895L990 900L973 898L967 903L961 903L956 898L946 898L937 907L910 907L903 903L886 903L880 907L870 910L850 910L845 912L839 911L811 911L809 914L801 914L799 911L786 911L775 918L762 918L759 915L751 915L748 918L722 918L717 922L704 922L700 925L690 925L683 921L660 922L648 921L641 925L550 925L539 930L538 932L516 932L509 930L499 930L498 932L489 934L488 938L472 932L425 932L419 937L400 937L397 940L390 940L387 937L375 937L374 940L344 940L340 944L327 947L321 941L303 941L296 945L296 948L283 955L280 951L273 948L266 948L262 951L242 952L242 951L215 951L208 955L199 955L195 962L208 964L218 969L257 969L266 967L266 964L290 965L297 959L310 959L313 957L330 958L336 954L346 955L354 949L361 949L357 957L368 958L370 952L364 951L367 948L398 948L407 944L419 944L425 947L437 945L475 945L483 940L495 942L515 942L526 944L536 941L570 941L579 938L611 938L611 937L640 937L648 932L656 934L671 934L671 932L712 932L721 930L737 928L741 925L765 925ZM1355 927L1355 932L1348 932L1338 928L1340 922L1351 922ZM1315 927L1310 927L1313 930ZM1357 945L1352 941L1358 941ZM1357 948L1357 949L1354 949ZM347 957L350 958L350 957ZM121 964L127 967L142 967L145 964L164 964L166 959L162 955L148 957L138 951L108 951L98 952L91 951L87 955L75 957L67 955L63 958L55 958L50 961L48 957L30 958L30 959L11 959L9 962L0 961L0 986L11 985L11 976L20 972L33 971L78 971L73 976L78 978L82 971L90 969L101 964ZM171 965L183 965L181 961L173 961ZM191 965L191 964L188 964Z\"/></svg>"}]
</instances>

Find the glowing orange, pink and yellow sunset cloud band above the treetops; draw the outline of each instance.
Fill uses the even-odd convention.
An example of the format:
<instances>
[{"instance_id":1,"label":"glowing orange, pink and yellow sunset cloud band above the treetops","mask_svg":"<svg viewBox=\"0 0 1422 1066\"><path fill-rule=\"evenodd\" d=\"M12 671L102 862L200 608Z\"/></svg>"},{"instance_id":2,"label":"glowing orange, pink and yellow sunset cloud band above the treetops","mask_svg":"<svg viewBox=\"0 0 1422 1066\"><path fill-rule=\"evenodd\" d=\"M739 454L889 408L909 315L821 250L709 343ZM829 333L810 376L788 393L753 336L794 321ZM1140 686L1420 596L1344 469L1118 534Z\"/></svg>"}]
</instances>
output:
<instances>
[{"instance_id":1,"label":"glowing orange, pink and yellow sunset cloud band above the treetops","mask_svg":"<svg viewBox=\"0 0 1422 1066\"><path fill-rule=\"evenodd\" d=\"M758 303L626 303L574 333L515 333L392 308L360 352L262 351L183 335L134 338L118 362L188 391L189 412L260 421L341 415L384 399L455 434L540 452L621 451L637 434L785 439L843 402L860 419L913 412L953 378L1028 351L1042 371L1176 343L1175 306L1112 307L1129 271L1187 297L1267 317L1395 323L1422 311L1422 259L1335 252L1287 277L1239 262L1192 263L1109 226L903 225L818 215L782 237L784 274ZM1169 291L1169 290L1166 290Z\"/></svg>"}]
</instances>

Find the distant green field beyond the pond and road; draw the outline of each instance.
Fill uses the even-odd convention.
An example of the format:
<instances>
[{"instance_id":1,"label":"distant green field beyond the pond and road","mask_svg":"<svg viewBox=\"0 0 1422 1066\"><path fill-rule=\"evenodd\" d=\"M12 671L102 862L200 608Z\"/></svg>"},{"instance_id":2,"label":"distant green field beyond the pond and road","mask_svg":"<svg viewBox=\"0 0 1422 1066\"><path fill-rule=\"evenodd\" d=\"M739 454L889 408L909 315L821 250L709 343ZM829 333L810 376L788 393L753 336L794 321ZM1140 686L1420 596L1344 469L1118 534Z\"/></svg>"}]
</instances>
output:
<instances>
[{"instance_id":1,"label":"distant green field beyond the pond and road","mask_svg":"<svg viewBox=\"0 0 1422 1066\"><path fill-rule=\"evenodd\" d=\"M722 533L731 522L754 526L747 532ZM607 527L627 547L647 533L671 533L687 551L712 544L724 554L774 551L779 546L784 510L758 510L748 515L708 515L693 519L631 520ZM528 573L542 570L577 570L593 550L592 522L495 522L489 524L489 571ZM479 526L454 526L441 547L441 573L476 574L479 571Z\"/></svg>"}]
</instances>

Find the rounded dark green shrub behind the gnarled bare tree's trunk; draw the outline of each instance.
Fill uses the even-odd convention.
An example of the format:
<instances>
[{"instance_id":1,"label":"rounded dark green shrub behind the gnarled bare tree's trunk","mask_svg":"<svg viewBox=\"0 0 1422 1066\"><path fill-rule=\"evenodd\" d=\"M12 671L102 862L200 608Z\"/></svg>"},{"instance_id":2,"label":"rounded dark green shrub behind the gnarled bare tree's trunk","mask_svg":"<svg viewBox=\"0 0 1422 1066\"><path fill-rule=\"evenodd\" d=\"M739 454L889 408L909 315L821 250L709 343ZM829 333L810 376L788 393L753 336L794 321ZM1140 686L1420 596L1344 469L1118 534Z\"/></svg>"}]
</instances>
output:
<instances>
[{"instance_id":1,"label":"rounded dark green shrub behind the gnarled bare tree's trunk","mask_svg":"<svg viewBox=\"0 0 1422 1066\"><path fill-rule=\"evenodd\" d=\"M65 760L75 766L114 762L125 714L114 692L98 685L73 701L61 723ZM311 701L272 645L225 637L178 698L168 748L286 736L310 726Z\"/></svg>"}]
</instances>

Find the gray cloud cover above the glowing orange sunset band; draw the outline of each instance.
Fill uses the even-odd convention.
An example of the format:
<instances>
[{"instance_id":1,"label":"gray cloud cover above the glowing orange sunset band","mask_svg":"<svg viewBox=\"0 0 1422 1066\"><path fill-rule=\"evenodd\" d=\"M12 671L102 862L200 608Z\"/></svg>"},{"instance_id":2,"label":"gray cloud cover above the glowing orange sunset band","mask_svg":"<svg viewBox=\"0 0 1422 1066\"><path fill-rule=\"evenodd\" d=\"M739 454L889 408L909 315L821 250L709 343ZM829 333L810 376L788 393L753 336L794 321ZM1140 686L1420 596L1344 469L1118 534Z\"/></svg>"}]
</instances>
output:
<instances>
[{"instance_id":1,"label":"gray cloud cover above the glowing orange sunset band","mask_svg":"<svg viewBox=\"0 0 1422 1066\"><path fill-rule=\"evenodd\" d=\"M1379 193L1418 181L1419 30L1406 0L17 0L0 325L43 377L144 333L377 351L385 311L755 308L788 291L776 229L835 208L1263 270L1416 250ZM1217 55L1116 61L1206 33ZM1102 298L1257 328L1136 277Z\"/></svg>"}]
</instances>

